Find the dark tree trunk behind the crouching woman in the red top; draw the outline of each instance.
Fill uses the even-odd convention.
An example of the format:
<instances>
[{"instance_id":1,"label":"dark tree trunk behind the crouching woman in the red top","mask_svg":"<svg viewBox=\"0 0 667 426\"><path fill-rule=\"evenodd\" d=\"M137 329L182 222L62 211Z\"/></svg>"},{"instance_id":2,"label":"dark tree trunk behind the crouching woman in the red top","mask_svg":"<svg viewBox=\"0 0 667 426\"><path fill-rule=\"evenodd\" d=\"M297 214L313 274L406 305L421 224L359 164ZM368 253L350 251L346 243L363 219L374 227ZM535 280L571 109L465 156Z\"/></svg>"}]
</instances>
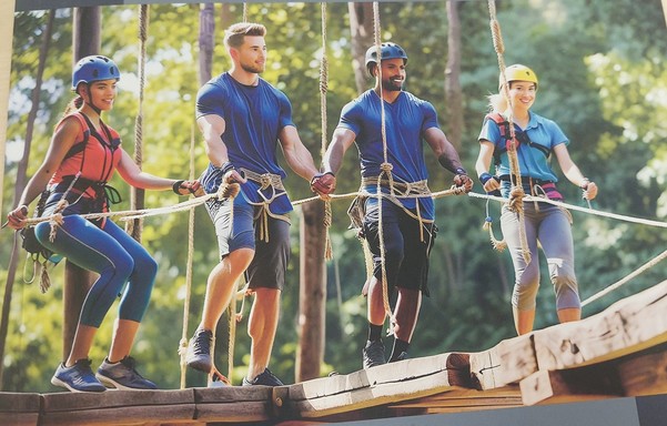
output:
<instances>
[{"instance_id":1,"label":"dark tree trunk behind the crouching woman in the red top","mask_svg":"<svg viewBox=\"0 0 667 426\"><path fill-rule=\"evenodd\" d=\"M100 52L100 34L102 12L100 7L74 8L74 26L72 34L73 59L77 63L81 58L98 54ZM79 315L83 301L92 285L94 275L70 261L64 264L64 288L63 297L63 325L62 325L62 354L67 359L74 341Z\"/></svg>"}]
</instances>

